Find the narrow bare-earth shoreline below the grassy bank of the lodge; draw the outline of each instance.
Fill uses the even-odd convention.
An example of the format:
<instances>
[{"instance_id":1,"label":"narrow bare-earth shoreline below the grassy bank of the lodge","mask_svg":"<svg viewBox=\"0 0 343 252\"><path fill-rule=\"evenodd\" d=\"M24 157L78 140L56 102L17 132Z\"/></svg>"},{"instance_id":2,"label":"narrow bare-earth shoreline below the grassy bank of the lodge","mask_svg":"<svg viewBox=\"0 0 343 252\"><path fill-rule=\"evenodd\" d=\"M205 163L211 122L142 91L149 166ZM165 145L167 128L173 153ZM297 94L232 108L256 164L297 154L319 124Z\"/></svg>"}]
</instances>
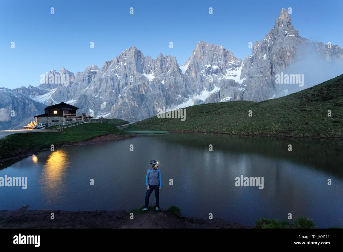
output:
<instances>
[{"instance_id":1,"label":"narrow bare-earth shoreline below the grassy bank of the lodge","mask_svg":"<svg viewBox=\"0 0 343 252\"><path fill-rule=\"evenodd\" d=\"M76 142L71 142L70 144L63 144L63 145L56 145L55 147L66 147L66 146L73 146L73 145L88 145L88 144L98 144L98 143L103 143L103 142L107 142L107 141L121 141L121 140L126 140L126 139L132 139L135 137L139 137L139 135L114 135L111 133L107 133L104 135L98 135L98 136L93 136L90 139L86 139L86 140L82 140L82 141L76 141ZM34 151L35 148L32 148L30 150L27 150L26 152L24 152L23 154L20 154L18 156L15 157L9 157L9 158L4 158L0 160L0 163L3 163L5 161L9 161L9 160L13 160L16 158L21 158L21 157L28 157L34 154L38 154L41 151L45 151L47 149L50 148L43 148L40 149L38 152Z\"/></svg>"}]
</instances>

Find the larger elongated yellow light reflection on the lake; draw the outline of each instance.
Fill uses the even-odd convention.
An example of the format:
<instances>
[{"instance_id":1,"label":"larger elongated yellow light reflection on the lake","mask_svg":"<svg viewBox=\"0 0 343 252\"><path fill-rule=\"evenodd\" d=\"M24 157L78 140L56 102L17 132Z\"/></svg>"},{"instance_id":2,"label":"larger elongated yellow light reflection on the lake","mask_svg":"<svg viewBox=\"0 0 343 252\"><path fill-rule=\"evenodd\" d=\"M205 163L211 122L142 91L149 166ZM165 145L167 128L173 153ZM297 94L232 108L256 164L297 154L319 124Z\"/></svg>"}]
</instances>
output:
<instances>
[{"instance_id":1,"label":"larger elongated yellow light reflection on the lake","mask_svg":"<svg viewBox=\"0 0 343 252\"><path fill-rule=\"evenodd\" d=\"M67 191L64 184L66 169L69 164L69 155L60 149L52 151L43 166L42 179L43 193L48 203L57 203L62 193Z\"/></svg>"}]
</instances>

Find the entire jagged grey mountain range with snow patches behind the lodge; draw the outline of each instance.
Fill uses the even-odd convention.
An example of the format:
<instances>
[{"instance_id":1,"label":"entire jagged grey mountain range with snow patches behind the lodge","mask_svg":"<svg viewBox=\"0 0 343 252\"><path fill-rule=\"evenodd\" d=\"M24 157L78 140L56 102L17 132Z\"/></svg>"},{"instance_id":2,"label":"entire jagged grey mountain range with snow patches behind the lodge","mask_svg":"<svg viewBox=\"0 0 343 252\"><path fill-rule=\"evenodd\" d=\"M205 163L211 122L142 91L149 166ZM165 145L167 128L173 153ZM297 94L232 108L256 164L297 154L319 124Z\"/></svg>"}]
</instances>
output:
<instances>
[{"instance_id":1,"label":"entire jagged grey mountain range with snow patches behind the lodge","mask_svg":"<svg viewBox=\"0 0 343 252\"><path fill-rule=\"evenodd\" d=\"M22 129L34 115L44 112L49 100L56 104L63 100L96 118L131 122L155 116L163 107L263 101L318 84L311 80L311 72L294 68L309 55L315 54L320 65L336 64L343 59L341 47L301 37L285 9L264 38L251 46L251 55L242 60L221 45L200 41L181 66L175 56L160 52L153 59L130 47L101 68L91 65L76 74L64 68L49 71L48 75L68 75L68 84L47 82L13 90L0 88L0 129ZM276 84L278 74L304 74L305 85ZM15 117L10 116L12 110L17 113Z\"/></svg>"}]
</instances>

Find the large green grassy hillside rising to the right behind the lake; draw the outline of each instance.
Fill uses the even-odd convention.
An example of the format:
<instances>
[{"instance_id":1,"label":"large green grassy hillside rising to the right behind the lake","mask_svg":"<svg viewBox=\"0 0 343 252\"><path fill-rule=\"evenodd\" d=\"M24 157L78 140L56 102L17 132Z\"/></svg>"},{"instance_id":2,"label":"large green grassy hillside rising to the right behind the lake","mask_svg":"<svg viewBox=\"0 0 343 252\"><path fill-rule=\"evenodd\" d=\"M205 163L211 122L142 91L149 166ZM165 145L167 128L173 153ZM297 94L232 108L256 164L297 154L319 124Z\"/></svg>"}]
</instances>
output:
<instances>
[{"instance_id":1,"label":"large green grassy hillside rising to the right behind the lake","mask_svg":"<svg viewBox=\"0 0 343 252\"><path fill-rule=\"evenodd\" d=\"M248 111L252 111L252 117ZM328 117L331 110L331 117ZM157 118L125 130L218 132L247 135L343 137L343 74L284 97L228 101L186 108L186 120Z\"/></svg>"}]
</instances>

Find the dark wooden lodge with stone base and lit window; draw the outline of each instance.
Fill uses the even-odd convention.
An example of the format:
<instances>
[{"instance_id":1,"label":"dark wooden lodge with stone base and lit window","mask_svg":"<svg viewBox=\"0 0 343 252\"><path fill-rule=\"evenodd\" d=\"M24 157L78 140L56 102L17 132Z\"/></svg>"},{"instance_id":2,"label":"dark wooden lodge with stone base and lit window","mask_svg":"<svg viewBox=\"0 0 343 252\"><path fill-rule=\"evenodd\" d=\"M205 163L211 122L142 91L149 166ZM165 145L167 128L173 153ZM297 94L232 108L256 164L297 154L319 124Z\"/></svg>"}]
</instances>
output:
<instances>
[{"instance_id":1,"label":"dark wooden lodge with stone base and lit window","mask_svg":"<svg viewBox=\"0 0 343 252\"><path fill-rule=\"evenodd\" d=\"M54 125L65 125L77 121L89 121L91 118L90 113L78 113L78 107L64 103L50 105L46 107L45 113L34 116L36 123L46 123L47 127Z\"/></svg>"}]
</instances>

